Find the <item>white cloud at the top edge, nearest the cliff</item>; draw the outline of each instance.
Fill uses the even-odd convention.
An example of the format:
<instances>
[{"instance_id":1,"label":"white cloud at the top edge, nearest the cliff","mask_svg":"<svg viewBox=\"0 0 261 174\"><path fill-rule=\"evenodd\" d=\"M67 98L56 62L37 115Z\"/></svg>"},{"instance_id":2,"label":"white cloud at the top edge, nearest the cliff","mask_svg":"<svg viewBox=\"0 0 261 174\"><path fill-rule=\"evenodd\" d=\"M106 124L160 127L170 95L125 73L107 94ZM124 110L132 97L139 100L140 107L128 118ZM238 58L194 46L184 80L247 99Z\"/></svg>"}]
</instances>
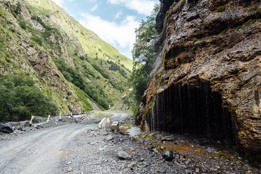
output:
<instances>
[{"instance_id":1,"label":"white cloud at the top edge, nearest the cliff","mask_svg":"<svg viewBox=\"0 0 261 174\"><path fill-rule=\"evenodd\" d=\"M122 5L128 9L135 10L139 14L150 15L156 0L107 0L108 3L114 5Z\"/></svg>"}]
</instances>

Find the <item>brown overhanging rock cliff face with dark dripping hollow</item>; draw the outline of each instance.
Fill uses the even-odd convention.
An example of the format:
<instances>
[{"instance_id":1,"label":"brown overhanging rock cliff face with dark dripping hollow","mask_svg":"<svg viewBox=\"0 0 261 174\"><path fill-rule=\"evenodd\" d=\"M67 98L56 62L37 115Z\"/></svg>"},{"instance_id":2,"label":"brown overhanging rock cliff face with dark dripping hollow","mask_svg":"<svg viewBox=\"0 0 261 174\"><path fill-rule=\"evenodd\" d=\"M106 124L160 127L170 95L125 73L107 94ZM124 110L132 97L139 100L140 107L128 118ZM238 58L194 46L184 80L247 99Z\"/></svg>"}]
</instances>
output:
<instances>
[{"instance_id":1,"label":"brown overhanging rock cliff face with dark dripping hollow","mask_svg":"<svg viewBox=\"0 0 261 174\"><path fill-rule=\"evenodd\" d=\"M136 116L141 128L236 139L260 161L260 1L162 3L155 65Z\"/></svg>"}]
</instances>

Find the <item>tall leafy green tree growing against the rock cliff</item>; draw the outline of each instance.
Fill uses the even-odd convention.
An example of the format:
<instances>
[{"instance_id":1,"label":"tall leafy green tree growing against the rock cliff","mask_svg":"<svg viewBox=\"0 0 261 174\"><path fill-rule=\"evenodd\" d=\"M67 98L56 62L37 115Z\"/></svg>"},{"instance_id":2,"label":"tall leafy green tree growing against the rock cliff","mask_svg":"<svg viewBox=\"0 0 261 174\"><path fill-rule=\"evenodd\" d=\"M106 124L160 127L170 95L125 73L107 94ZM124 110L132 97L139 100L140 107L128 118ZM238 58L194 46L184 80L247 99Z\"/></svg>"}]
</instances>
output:
<instances>
[{"instance_id":1,"label":"tall leafy green tree growing against the rock cliff","mask_svg":"<svg viewBox=\"0 0 261 174\"><path fill-rule=\"evenodd\" d=\"M131 73L130 82L133 85L132 95L135 101L135 108L141 102L141 97L144 94L147 86L147 79L153 67L154 41L158 37L155 29L155 18L159 5L154 6L153 12L147 17L147 20L142 20L139 28L135 29L136 40L133 44L133 71ZM137 109L134 111L134 114Z\"/></svg>"}]
</instances>

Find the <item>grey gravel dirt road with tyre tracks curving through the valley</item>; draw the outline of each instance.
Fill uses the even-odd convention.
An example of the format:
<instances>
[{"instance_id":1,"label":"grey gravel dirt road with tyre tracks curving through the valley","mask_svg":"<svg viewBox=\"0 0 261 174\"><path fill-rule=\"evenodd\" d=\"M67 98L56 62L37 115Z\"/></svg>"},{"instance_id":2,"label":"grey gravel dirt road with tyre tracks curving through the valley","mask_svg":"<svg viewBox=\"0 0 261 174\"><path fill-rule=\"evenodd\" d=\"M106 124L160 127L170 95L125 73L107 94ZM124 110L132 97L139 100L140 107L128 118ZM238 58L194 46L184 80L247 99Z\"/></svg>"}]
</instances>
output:
<instances>
[{"instance_id":1,"label":"grey gravel dirt road with tyre tracks curving through the valley","mask_svg":"<svg viewBox=\"0 0 261 174\"><path fill-rule=\"evenodd\" d=\"M126 113L111 114L111 120L130 116ZM60 173L57 169L61 160L59 152L90 126L97 127L86 123L58 126L1 142L0 174Z\"/></svg>"}]
</instances>

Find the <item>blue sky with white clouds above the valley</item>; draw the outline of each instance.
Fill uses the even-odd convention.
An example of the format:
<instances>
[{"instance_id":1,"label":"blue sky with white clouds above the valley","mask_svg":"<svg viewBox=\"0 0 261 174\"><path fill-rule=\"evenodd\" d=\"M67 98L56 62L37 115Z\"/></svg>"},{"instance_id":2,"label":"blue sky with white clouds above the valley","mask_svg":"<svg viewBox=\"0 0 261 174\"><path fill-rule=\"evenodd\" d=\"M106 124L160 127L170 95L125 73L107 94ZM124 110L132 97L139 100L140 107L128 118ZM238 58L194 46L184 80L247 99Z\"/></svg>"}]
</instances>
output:
<instances>
[{"instance_id":1,"label":"blue sky with white clouds above the valley","mask_svg":"<svg viewBox=\"0 0 261 174\"><path fill-rule=\"evenodd\" d=\"M159 0L53 0L85 28L132 59L135 28Z\"/></svg>"}]
</instances>

